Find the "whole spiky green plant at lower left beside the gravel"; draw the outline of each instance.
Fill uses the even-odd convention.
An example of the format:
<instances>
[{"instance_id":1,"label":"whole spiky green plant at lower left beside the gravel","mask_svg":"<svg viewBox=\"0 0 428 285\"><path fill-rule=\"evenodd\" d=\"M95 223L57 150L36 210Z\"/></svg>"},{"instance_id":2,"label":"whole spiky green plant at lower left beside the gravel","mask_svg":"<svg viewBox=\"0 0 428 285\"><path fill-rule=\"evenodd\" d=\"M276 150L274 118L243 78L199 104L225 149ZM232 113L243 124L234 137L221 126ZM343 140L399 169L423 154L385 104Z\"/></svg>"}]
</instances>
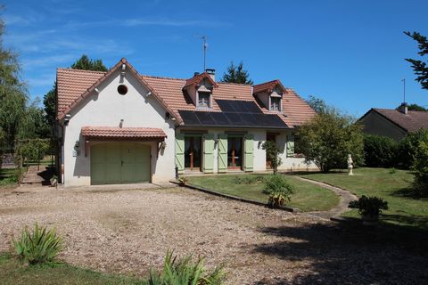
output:
<instances>
[{"instance_id":1,"label":"whole spiky green plant at lower left beside the gravel","mask_svg":"<svg viewBox=\"0 0 428 285\"><path fill-rule=\"evenodd\" d=\"M25 227L18 240L12 238L12 244L18 256L30 265L52 263L62 250L62 238L55 229L48 231L37 223L32 232Z\"/></svg>"}]
</instances>

